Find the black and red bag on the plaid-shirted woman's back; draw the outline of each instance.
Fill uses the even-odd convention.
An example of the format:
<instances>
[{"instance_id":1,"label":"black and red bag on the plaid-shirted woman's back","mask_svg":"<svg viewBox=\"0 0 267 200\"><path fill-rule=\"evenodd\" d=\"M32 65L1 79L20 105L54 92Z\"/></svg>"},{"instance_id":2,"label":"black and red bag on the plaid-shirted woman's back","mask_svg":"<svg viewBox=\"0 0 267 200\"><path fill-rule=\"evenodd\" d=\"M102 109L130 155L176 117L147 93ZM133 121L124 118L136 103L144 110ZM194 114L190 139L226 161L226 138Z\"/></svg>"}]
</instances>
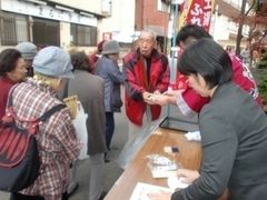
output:
<instances>
[{"instance_id":1,"label":"black and red bag on the plaid-shirted woman's back","mask_svg":"<svg viewBox=\"0 0 267 200\"><path fill-rule=\"evenodd\" d=\"M12 92L8 102L8 112L0 120L0 190L17 192L34 182L39 174L40 160L34 134L39 123L65 108L58 104L40 118L28 121L23 129L18 127L18 119L12 110Z\"/></svg>"}]
</instances>

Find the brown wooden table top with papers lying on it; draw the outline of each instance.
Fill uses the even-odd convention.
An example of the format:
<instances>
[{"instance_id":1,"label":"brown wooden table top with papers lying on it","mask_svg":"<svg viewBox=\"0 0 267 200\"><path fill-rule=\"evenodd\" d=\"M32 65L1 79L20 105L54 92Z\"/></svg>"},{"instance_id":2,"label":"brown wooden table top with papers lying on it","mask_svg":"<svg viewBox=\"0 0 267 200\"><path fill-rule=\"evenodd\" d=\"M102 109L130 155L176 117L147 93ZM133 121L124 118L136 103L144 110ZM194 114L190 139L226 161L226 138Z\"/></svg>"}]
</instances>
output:
<instances>
[{"instance_id":1,"label":"brown wooden table top with papers lying on it","mask_svg":"<svg viewBox=\"0 0 267 200\"><path fill-rule=\"evenodd\" d=\"M128 200L137 184L145 182L167 187L167 179L155 179L147 167L147 156L164 154L164 147L178 147L179 152L172 156L184 168L196 170L200 166L201 147L199 142L188 142L182 132L169 129L157 129L145 142L132 162L116 181L105 200Z\"/></svg>"}]
</instances>

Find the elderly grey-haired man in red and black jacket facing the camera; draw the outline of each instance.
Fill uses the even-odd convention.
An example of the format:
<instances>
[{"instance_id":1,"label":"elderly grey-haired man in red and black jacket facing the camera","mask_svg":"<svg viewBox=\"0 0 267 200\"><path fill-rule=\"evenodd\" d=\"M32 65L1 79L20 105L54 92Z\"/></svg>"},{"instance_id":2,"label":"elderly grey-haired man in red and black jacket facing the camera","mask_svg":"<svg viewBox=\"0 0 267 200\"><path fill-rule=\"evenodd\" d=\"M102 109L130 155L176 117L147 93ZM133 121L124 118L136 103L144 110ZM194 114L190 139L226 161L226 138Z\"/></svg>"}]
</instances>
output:
<instances>
[{"instance_id":1,"label":"elderly grey-haired man in red and black jacket facing the camera","mask_svg":"<svg viewBox=\"0 0 267 200\"><path fill-rule=\"evenodd\" d=\"M156 44L156 34L144 30L137 50L123 58L125 107L129 119L128 143L134 143L144 132L145 122L151 126L150 122L160 117L161 107L152 103L151 97L168 89L169 64L168 59L157 51ZM129 154L127 157L129 159Z\"/></svg>"}]
</instances>

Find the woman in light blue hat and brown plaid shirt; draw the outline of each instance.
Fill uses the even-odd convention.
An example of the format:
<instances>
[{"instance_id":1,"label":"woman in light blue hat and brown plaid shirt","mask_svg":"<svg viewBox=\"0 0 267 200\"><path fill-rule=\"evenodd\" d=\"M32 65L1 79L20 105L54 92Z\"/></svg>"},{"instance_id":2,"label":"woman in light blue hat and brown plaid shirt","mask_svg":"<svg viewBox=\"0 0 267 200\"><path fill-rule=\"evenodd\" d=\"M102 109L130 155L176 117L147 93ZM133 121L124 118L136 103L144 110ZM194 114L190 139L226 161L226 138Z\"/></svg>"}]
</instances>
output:
<instances>
[{"instance_id":1,"label":"woman in light blue hat and brown plaid shirt","mask_svg":"<svg viewBox=\"0 0 267 200\"><path fill-rule=\"evenodd\" d=\"M40 50L33 59L33 78L12 89L13 110L18 118L24 120L37 119L61 104L57 92L66 79L73 77L70 56L58 47ZM12 193L11 200L67 200L69 166L80 150L69 110L61 109L42 122L36 139L40 174L31 186Z\"/></svg>"}]
</instances>

